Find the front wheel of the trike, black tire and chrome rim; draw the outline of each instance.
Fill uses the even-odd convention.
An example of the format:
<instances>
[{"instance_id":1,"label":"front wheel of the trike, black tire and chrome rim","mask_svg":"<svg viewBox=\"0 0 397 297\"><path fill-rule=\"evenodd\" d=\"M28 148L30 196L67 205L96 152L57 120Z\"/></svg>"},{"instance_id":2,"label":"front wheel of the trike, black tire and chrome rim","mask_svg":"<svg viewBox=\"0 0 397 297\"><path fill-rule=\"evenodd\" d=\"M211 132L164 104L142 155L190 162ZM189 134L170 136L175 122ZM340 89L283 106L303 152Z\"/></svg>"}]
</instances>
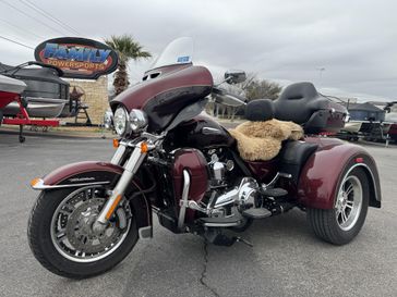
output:
<instances>
[{"instance_id":1,"label":"front wheel of the trike, black tire and chrome rim","mask_svg":"<svg viewBox=\"0 0 397 297\"><path fill-rule=\"evenodd\" d=\"M136 222L123 200L105 231L93 223L107 200L103 186L43 191L28 221L28 243L49 271L70 279L100 274L122 261L137 242Z\"/></svg>"}]
</instances>

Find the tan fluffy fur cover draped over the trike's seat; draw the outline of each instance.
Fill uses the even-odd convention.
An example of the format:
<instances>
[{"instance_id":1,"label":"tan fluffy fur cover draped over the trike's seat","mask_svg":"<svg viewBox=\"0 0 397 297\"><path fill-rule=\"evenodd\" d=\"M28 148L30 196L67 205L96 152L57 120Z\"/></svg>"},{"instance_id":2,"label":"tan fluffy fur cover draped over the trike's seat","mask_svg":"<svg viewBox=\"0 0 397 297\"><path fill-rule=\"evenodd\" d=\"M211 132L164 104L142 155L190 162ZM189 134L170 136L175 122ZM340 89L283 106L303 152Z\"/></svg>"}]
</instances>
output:
<instances>
[{"instance_id":1,"label":"tan fluffy fur cover draped over the trike's seat","mask_svg":"<svg viewBox=\"0 0 397 297\"><path fill-rule=\"evenodd\" d=\"M303 137L302 127L293 122L276 119L264 122L245 122L229 129L237 140L240 156L246 161L267 161L281 149L281 141Z\"/></svg>"}]
</instances>

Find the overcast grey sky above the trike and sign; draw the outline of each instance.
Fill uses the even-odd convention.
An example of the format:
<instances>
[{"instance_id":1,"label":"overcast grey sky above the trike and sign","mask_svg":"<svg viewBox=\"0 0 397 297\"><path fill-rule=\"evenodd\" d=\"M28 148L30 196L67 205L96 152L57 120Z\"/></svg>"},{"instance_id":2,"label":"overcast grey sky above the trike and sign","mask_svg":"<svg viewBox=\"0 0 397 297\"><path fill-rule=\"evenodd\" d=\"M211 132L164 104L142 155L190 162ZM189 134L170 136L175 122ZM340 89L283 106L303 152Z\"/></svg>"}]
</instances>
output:
<instances>
[{"instance_id":1,"label":"overcast grey sky above the trike and sign","mask_svg":"<svg viewBox=\"0 0 397 297\"><path fill-rule=\"evenodd\" d=\"M393 0L0 0L0 36L32 48L61 36L130 34L156 57L190 36L194 63L214 77L240 69L282 86L312 82L325 95L397 99ZM0 62L27 60L32 49L0 39ZM132 83L152 62L130 63Z\"/></svg>"}]
</instances>

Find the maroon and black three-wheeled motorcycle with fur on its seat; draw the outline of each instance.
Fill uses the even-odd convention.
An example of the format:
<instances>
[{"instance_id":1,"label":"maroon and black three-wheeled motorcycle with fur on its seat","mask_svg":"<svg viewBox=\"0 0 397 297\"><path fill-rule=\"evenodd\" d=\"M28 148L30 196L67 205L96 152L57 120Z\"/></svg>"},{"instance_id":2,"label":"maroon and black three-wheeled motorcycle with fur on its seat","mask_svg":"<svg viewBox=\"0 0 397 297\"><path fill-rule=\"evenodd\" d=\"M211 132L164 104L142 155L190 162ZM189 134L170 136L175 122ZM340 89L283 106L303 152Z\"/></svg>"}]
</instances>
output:
<instances>
[{"instance_id":1,"label":"maroon and black three-wheeled motorcycle with fur on its seat","mask_svg":"<svg viewBox=\"0 0 397 297\"><path fill-rule=\"evenodd\" d=\"M238 234L253 220L299 208L315 235L344 245L368 207L381 207L373 158L324 136L344 126L345 108L310 83L244 103L192 64L192 49L190 38L172 41L140 84L110 102L120 136L110 162L73 163L32 181L41 191L28 242L49 271L83 279L113 268L153 236L153 213L176 234L230 246L251 245ZM244 79L229 71L224 83ZM248 133L237 137L203 115L208 99L244 106L248 122L236 131Z\"/></svg>"}]
</instances>

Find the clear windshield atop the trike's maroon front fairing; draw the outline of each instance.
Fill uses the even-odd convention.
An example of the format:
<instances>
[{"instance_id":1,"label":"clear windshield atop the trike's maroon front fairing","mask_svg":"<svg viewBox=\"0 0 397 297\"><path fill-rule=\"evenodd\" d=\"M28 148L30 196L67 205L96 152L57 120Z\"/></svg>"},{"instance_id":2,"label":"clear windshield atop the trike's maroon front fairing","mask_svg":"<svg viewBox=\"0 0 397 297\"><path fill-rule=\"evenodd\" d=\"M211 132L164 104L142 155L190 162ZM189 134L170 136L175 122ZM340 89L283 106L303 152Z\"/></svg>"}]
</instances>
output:
<instances>
[{"instance_id":1,"label":"clear windshield atop the trike's maroon front fairing","mask_svg":"<svg viewBox=\"0 0 397 297\"><path fill-rule=\"evenodd\" d=\"M193 39L181 37L171 41L158 55L151 70L176 64L192 63Z\"/></svg>"}]
</instances>

